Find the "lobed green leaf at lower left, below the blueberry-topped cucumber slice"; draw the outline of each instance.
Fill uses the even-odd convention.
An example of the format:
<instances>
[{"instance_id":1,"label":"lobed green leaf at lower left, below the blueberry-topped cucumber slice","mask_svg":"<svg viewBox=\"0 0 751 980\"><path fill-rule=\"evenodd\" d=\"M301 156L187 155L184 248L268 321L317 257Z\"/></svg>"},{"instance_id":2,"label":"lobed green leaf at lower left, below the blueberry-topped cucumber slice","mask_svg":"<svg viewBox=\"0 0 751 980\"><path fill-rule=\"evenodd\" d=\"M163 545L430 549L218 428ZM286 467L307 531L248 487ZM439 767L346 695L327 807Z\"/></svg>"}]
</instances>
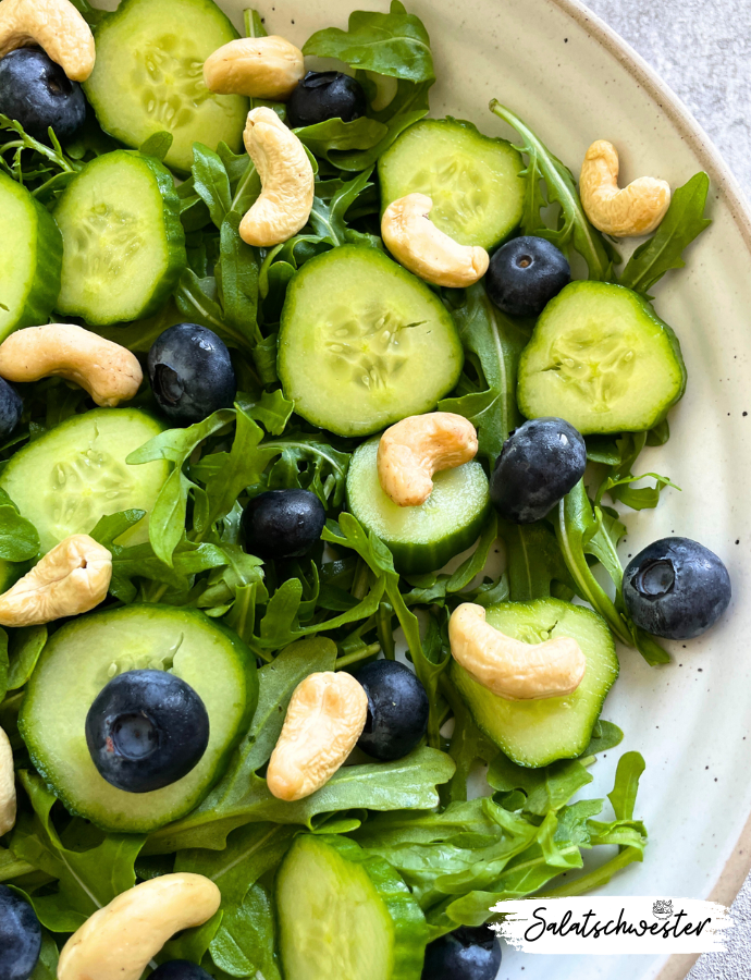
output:
<instances>
[{"instance_id":1,"label":"lobed green leaf at lower left, below the blueberry-topped cucumber slice","mask_svg":"<svg viewBox=\"0 0 751 980\"><path fill-rule=\"evenodd\" d=\"M108 834L97 847L70 850L52 824L56 797L35 772L19 773L34 816L22 810L11 837L13 854L58 879L53 894L30 896L39 921L52 932L74 932L97 909L136 882L134 862L146 840Z\"/></svg>"}]
</instances>

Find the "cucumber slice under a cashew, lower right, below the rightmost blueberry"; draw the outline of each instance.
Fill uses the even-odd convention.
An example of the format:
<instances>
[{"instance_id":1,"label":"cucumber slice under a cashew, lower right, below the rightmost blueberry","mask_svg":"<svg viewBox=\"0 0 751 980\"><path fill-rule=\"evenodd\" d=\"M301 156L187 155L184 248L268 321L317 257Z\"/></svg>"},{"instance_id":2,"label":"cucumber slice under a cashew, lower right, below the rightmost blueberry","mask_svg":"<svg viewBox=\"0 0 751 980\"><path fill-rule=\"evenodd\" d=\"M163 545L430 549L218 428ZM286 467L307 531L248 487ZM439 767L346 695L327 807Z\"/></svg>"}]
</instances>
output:
<instances>
[{"instance_id":1,"label":"cucumber slice under a cashew, lower right, below the rightmost blueberry","mask_svg":"<svg viewBox=\"0 0 751 980\"><path fill-rule=\"evenodd\" d=\"M507 701L488 690L452 660L451 676L478 726L517 765L537 769L574 759L589 745L605 695L618 676L618 658L605 621L591 609L559 599L502 602L488 622L526 644L571 636L587 659L581 684L565 698Z\"/></svg>"}]
</instances>

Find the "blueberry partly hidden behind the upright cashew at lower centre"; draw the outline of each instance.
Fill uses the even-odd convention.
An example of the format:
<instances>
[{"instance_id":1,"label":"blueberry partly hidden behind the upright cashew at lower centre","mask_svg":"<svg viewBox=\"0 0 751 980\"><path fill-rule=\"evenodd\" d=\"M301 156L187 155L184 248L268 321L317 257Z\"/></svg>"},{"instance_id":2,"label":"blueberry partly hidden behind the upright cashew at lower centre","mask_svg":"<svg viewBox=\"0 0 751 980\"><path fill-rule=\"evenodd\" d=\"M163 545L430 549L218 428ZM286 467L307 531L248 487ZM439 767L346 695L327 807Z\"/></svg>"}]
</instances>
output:
<instances>
[{"instance_id":1,"label":"blueberry partly hidden behind the upright cashew at lower centre","mask_svg":"<svg viewBox=\"0 0 751 980\"><path fill-rule=\"evenodd\" d=\"M395 660L374 660L357 673L368 695L368 719L359 747L383 762L401 759L428 726L428 695L415 674Z\"/></svg>"}]
</instances>

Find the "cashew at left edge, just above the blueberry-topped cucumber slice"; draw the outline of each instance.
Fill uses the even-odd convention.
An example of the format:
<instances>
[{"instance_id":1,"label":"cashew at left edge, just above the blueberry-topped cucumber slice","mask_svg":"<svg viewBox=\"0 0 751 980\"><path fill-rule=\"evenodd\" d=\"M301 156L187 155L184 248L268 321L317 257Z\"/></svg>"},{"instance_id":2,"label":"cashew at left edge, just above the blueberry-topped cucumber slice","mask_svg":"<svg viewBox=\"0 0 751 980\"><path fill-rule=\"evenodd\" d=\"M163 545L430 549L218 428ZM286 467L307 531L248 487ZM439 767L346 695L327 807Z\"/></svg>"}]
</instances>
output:
<instances>
[{"instance_id":1,"label":"cashew at left edge, just above the blueberry-topped cucumber slice","mask_svg":"<svg viewBox=\"0 0 751 980\"><path fill-rule=\"evenodd\" d=\"M72 535L0 596L0 626L40 626L89 612L111 578L110 552L88 535Z\"/></svg>"}]
</instances>

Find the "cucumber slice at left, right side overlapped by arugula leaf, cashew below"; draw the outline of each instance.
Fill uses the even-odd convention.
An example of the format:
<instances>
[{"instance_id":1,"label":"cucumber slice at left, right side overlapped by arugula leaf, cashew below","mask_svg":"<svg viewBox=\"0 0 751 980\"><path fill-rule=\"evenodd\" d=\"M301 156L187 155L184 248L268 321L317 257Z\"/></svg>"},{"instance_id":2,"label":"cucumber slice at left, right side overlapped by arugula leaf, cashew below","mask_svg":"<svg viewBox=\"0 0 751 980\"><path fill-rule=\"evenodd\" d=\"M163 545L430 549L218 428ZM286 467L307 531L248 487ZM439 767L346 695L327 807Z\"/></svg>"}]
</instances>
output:
<instances>
[{"instance_id":1,"label":"cucumber slice at left, right side overlapped by arugula leaf, cashew below","mask_svg":"<svg viewBox=\"0 0 751 980\"><path fill-rule=\"evenodd\" d=\"M0 487L36 527L42 554L70 535L88 534L106 514L151 510L168 462L128 466L124 461L163 428L136 408L97 408L74 415L11 458ZM146 540L148 517L118 543Z\"/></svg>"}]
</instances>

